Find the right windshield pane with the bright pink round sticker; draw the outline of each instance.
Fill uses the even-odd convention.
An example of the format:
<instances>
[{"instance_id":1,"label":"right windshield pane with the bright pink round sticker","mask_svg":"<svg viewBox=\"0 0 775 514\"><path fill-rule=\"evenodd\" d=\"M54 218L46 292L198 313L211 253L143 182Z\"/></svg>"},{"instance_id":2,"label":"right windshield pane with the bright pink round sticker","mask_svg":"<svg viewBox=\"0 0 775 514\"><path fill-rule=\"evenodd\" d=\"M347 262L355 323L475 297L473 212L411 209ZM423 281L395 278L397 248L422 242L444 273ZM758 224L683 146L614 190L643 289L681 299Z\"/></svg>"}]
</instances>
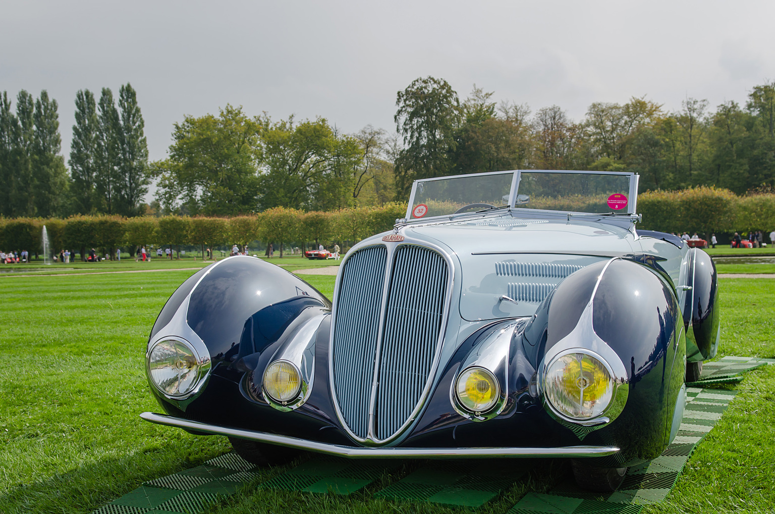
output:
<instances>
[{"instance_id":1,"label":"right windshield pane with the bright pink round sticker","mask_svg":"<svg viewBox=\"0 0 775 514\"><path fill-rule=\"evenodd\" d=\"M567 212L632 212L629 175L522 171L517 207Z\"/></svg>"}]
</instances>

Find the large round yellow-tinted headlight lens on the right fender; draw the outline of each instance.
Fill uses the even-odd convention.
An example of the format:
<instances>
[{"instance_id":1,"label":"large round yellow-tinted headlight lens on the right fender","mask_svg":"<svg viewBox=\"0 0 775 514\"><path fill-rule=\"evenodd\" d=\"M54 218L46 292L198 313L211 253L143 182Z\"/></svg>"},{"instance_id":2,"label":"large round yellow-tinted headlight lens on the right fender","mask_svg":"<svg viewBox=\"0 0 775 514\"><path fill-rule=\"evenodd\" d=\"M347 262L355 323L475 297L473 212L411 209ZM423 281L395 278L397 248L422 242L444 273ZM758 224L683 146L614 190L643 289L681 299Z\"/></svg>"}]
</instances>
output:
<instances>
[{"instance_id":1,"label":"large round yellow-tinted headlight lens on the right fender","mask_svg":"<svg viewBox=\"0 0 775 514\"><path fill-rule=\"evenodd\" d=\"M574 353L554 359L546 368L546 397L564 416L600 416L614 395L614 380L600 360Z\"/></svg>"}]
</instances>

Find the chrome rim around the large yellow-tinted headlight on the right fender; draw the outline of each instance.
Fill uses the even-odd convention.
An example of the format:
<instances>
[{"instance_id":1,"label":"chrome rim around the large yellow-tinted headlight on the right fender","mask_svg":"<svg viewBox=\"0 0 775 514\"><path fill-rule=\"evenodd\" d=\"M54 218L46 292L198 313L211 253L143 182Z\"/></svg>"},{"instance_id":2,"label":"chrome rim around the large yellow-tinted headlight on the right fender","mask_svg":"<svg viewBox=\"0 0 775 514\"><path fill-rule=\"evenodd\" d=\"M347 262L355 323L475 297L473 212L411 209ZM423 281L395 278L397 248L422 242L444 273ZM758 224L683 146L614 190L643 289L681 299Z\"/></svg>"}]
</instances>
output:
<instances>
[{"instance_id":1,"label":"chrome rim around the large yellow-tinted headlight on the right fender","mask_svg":"<svg viewBox=\"0 0 775 514\"><path fill-rule=\"evenodd\" d=\"M611 392L611 400L608 402L608 405L605 406L605 409L599 412L596 416L591 416L589 418L574 418L567 416L567 414L556 408L556 406L551 402L548 395L546 394L546 371L549 370L549 367L551 367L552 364L556 362L556 360L571 354L584 354L588 357L592 357L595 360L598 360L598 362L603 364L606 371L608 371L608 375L611 377L611 381L613 381L614 386L613 391ZM615 364L619 364L619 367L624 369L624 365L622 364L621 359L619 359L615 354L613 354L613 356L615 356L615 358L618 360L618 363ZM611 358L611 356L609 356L609 358ZM594 350L590 350L589 348L566 348L564 350L560 350L559 352L553 353L551 358L546 360L545 363L541 365L540 370L541 377L539 380L539 385L543 405L549 414L560 421L581 426L602 425L613 421L622 412L622 409L624 409L624 405L627 402L627 397L629 395L629 381L627 380L626 374L624 374L624 376L622 376L622 374L617 374L614 371L614 366L611 364L611 362L609 362L608 359L601 356L601 354L598 354Z\"/></svg>"}]
</instances>

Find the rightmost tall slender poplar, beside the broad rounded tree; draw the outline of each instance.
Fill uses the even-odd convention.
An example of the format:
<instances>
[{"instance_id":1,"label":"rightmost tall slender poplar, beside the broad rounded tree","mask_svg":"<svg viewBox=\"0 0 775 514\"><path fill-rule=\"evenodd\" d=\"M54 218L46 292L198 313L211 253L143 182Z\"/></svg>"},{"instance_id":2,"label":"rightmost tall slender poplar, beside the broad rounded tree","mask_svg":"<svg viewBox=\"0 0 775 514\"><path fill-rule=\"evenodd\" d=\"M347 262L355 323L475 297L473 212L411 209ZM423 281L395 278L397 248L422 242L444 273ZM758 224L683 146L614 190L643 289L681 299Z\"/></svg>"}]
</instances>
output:
<instances>
[{"instance_id":1,"label":"rightmost tall slender poplar, beside the broad rounded tree","mask_svg":"<svg viewBox=\"0 0 775 514\"><path fill-rule=\"evenodd\" d=\"M118 211L125 216L142 214L140 207L148 192L150 179L148 167L148 146L143 135L143 114L137 105L137 93L129 82L119 89L121 120L118 133Z\"/></svg>"}]
</instances>

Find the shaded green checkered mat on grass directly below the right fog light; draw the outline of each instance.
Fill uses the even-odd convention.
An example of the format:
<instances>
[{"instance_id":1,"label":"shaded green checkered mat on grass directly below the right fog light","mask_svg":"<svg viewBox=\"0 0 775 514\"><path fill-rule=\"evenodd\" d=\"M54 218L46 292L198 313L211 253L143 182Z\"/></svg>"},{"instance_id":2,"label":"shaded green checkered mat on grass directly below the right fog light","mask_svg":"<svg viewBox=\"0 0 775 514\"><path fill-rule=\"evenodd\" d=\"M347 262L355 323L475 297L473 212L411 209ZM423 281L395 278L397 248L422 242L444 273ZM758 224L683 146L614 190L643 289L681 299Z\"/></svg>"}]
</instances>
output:
<instances>
[{"instance_id":1,"label":"shaded green checkered mat on grass directly below the right fog light","mask_svg":"<svg viewBox=\"0 0 775 514\"><path fill-rule=\"evenodd\" d=\"M376 496L478 507L510 488L528 470L526 461L432 461Z\"/></svg>"}]
</instances>

